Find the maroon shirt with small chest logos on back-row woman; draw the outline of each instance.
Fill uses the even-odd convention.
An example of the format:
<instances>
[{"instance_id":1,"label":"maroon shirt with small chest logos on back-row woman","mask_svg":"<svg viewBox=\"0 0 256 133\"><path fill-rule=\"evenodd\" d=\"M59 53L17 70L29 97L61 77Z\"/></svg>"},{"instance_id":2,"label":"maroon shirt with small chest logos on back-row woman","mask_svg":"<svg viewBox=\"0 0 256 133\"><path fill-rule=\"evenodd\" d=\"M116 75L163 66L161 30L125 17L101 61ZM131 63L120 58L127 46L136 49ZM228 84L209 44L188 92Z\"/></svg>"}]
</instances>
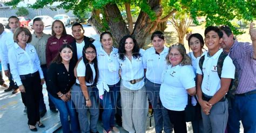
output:
<instances>
[{"instance_id":1,"label":"maroon shirt with small chest logos on back-row woman","mask_svg":"<svg viewBox=\"0 0 256 133\"><path fill-rule=\"evenodd\" d=\"M63 35L59 39L55 36L51 36L46 44L46 64L49 66L51 61L56 57L59 48L64 44L71 44L75 38L70 34Z\"/></svg>"}]
</instances>

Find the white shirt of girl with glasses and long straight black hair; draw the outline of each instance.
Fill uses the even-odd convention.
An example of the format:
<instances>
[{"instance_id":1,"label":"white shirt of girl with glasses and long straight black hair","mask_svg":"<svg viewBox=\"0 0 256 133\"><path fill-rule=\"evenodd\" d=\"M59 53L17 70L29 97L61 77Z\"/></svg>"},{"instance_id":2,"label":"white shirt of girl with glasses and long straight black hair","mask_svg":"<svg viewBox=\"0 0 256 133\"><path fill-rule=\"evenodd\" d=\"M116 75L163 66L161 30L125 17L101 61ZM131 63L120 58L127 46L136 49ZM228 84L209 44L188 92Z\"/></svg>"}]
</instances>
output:
<instances>
[{"instance_id":1,"label":"white shirt of girl with glasses and long straight black hair","mask_svg":"<svg viewBox=\"0 0 256 133\"><path fill-rule=\"evenodd\" d=\"M94 79L95 79L95 77L96 77L96 72L95 72L95 68L94 68L93 64L89 64L89 65L90 65L90 67L91 67L91 69L92 69L93 82L92 82L92 83L86 82L86 86L93 85ZM86 67L85 67L85 65L84 65L84 61L81 60L81 61L78 63L78 65L77 65L77 76L78 76L78 77L79 77L79 76L86 76L86 75L85 75L85 72L86 72ZM76 83L79 84L79 80L78 80L78 79L76 79Z\"/></svg>"}]
</instances>

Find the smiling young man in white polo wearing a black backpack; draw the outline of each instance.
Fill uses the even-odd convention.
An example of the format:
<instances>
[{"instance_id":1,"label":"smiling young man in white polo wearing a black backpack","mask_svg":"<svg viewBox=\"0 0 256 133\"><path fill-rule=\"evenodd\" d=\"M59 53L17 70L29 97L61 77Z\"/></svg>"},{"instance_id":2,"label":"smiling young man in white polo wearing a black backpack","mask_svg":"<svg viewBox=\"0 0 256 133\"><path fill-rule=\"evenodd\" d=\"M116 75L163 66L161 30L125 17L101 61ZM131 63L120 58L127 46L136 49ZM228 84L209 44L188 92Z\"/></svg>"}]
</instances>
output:
<instances>
[{"instance_id":1,"label":"smiling young man in white polo wearing a black backpack","mask_svg":"<svg viewBox=\"0 0 256 133\"><path fill-rule=\"evenodd\" d=\"M234 79L235 66L230 57L223 62L221 79L217 62L223 49L219 49L223 33L217 26L205 29L205 44L208 52L204 55L202 70L197 67L197 96L202 109L204 132L225 132L228 118L226 93Z\"/></svg>"}]
</instances>

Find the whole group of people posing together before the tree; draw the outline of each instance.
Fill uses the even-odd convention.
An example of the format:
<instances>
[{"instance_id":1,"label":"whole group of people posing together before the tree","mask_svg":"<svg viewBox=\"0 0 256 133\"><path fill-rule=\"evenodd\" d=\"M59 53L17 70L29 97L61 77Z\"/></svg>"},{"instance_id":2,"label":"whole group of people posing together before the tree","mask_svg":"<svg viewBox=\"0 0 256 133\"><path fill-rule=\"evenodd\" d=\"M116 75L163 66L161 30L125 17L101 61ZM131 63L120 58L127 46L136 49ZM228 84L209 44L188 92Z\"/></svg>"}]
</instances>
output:
<instances>
[{"instance_id":1,"label":"whole group of people posing together before the tree","mask_svg":"<svg viewBox=\"0 0 256 133\"><path fill-rule=\"evenodd\" d=\"M9 18L10 27L16 19L19 23L17 17ZM16 26L10 31L13 42L1 42L3 67L10 69L10 79L21 91L31 131L49 126L40 122L44 82L63 132L98 132L100 108L103 132L120 132L114 121L119 96L122 127L128 132L146 132L149 103L157 133L187 132L188 97L200 111L192 121L193 132L239 132L240 120L245 132L256 131L256 30L252 24L252 44L239 43L228 26L208 26L205 39L189 34L189 53L183 44L166 47L160 31L151 35L153 46L143 50L130 35L113 47L107 31L100 34L97 46L84 36L79 23L72 25L73 36L59 20L52 24L52 36L44 34L43 27L36 18L33 34ZM238 86L228 97L236 78Z\"/></svg>"}]
</instances>

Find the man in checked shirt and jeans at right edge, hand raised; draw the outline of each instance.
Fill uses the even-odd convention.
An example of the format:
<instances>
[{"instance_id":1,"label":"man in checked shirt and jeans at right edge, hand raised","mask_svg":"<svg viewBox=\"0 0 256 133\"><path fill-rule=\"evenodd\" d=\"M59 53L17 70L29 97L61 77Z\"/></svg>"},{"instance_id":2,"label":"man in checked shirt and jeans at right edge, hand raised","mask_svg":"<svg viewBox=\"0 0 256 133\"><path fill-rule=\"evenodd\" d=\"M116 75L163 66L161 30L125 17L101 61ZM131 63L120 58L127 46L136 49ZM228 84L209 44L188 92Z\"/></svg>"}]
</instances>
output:
<instances>
[{"instance_id":1,"label":"man in checked shirt and jeans at right edge, hand raised","mask_svg":"<svg viewBox=\"0 0 256 133\"><path fill-rule=\"evenodd\" d=\"M238 42L228 26L221 26L221 47L229 54L238 71L238 86L228 110L228 132L239 132L240 120L244 132L256 132L256 29L250 26L252 44Z\"/></svg>"}]
</instances>

